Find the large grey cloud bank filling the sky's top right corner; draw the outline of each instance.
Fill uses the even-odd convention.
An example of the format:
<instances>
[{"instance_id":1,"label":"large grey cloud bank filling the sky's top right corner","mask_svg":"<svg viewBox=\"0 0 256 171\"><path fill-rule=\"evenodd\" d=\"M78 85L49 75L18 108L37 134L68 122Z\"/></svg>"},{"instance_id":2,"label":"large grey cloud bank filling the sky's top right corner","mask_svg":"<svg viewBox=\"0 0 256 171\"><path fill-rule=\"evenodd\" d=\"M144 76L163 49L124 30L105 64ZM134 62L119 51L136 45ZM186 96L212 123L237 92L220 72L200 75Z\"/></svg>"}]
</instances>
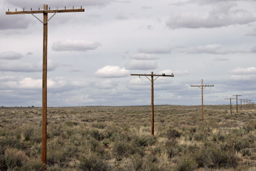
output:
<instances>
[{"instance_id":1,"label":"large grey cloud bank filling the sky's top right corner","mask_svg":"<svg viewBox=\"0 0 256 171\"><path fill-rule=\"evenodd\" d=\"M236 3L217 3L208 14L182 13L170 17L166 26L177 28L216 28L230 25L245 25L255 22L256 17L243 9L232 9Z\"/></svg>"}]
</instances>

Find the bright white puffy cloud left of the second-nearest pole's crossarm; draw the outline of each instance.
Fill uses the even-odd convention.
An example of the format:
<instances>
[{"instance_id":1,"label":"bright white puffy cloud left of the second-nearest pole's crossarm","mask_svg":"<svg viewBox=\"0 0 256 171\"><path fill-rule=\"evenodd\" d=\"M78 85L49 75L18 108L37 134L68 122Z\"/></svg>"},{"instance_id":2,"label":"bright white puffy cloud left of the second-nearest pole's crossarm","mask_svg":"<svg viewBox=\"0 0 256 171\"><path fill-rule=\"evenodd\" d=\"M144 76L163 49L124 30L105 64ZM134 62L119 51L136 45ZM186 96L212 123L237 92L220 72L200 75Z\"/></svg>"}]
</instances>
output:
<instances>
[{"instance_id":1,"label":"bright white puffy cloud left of the second-nearest pole's crossarm","mask_svg":"<svg viewBox=\"0 0 256 171\"><path fill-rule=\"evenodd\" d=\"M95 75L101 78L119 78L129 76L130 71L118 66L105 66L98 69Z\"/></svg>"}]
</instances>

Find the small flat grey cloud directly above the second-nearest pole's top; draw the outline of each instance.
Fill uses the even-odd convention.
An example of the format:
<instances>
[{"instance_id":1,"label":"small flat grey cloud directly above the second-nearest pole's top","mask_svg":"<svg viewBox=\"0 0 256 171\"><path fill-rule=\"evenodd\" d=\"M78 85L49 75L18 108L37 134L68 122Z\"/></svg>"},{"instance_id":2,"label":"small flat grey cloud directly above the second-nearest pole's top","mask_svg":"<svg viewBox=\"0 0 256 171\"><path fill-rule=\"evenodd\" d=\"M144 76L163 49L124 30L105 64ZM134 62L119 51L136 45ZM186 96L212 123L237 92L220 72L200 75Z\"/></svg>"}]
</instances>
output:
<instances>
[{"instance_id":1,"label":"small flat grey cloud directly above the second-nearest pole's top","mask_svg":"<svg viewBox=\"0 0 256 171\"><path fill-rule=\"evenodd\" d=\"M128 70L154 70L157 68L156 61L131 60L125 64Z\"/></svg>"}]
</instances>

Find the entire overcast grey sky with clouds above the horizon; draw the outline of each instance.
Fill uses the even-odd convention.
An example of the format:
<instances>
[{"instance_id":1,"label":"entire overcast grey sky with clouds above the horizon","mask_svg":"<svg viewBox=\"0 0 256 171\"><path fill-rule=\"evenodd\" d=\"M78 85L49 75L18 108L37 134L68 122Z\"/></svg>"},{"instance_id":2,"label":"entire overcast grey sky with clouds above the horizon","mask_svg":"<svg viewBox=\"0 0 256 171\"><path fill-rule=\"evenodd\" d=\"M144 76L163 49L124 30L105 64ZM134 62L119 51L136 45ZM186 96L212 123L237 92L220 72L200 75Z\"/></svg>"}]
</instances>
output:
<instances>
[{"instance_id":1,"label":"entire overcast grey sky with clouds above the horizon","mask_svg":"<svg viewBox=\"0 0 256 171\"><path fill-rule=\"evenodd\" d=\"M0 106L41 106L42 24L5 12L82 8L48 23L48 106L256 100L255 0L0 1ZM52 14L49 14L50 18ZM36 14L42 19L42 14ZM236 103L233 100L233 103Z\"/></svg>"}]
</instances>

